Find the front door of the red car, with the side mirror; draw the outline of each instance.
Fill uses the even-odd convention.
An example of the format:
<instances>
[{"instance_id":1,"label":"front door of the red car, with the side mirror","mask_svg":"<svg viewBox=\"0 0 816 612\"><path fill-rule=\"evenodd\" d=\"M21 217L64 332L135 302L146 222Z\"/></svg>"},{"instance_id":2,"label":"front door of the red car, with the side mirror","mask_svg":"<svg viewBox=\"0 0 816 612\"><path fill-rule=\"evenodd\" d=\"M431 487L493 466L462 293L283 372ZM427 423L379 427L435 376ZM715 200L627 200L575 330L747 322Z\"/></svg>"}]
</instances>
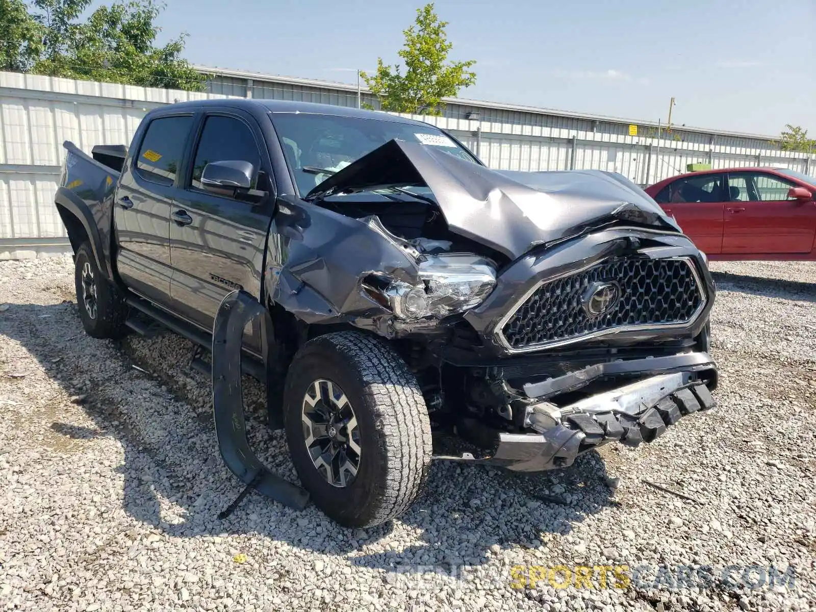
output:
<instances>
[{"instance_id":1,"label":"front door of the red car, with the side mirror","mask_svg":"<svg viewBox=\"0 0 816 612\"><path fill-rule=\"evenodd\" d=\"M816 205L787 197L792 181L760 171L729 172L724 254L809 253Z\"/></svg>"}]
</instances>

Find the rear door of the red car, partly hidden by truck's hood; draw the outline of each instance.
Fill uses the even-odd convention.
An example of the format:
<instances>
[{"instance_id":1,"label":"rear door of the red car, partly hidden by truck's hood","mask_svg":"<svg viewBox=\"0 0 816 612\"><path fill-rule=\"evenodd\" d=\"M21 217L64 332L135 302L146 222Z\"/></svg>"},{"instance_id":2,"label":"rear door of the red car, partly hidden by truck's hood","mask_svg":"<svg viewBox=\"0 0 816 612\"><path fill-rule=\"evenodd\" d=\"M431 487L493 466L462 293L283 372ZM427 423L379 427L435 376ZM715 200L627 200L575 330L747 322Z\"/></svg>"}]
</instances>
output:
<instances>
[{"instance_id":1,"label":"rear door of the red car, partly hidden by truck's hood","mask_svg":"<svg viewBox=\"0 0 816 612\"><path fill-rule=\"evenodd\" d=\"M666 214L673 216L683 233L707 255L722 252L724 176L689 176L667 184L654 197Z\"/></svg>"}]
</instances>

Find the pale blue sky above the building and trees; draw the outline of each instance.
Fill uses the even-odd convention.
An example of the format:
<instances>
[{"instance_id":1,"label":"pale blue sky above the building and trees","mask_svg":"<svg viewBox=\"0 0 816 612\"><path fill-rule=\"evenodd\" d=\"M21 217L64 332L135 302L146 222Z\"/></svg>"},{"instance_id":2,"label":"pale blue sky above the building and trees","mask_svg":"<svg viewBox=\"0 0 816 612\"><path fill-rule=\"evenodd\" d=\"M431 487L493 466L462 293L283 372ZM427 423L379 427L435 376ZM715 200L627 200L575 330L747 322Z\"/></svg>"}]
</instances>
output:
<instances>
[{"instance_id":1,"label":"pale blue sky above the building and trees","mask_svg":"<svg viewBox=\"0 0 816 612\"><path fill-rule=\"evenodd\" d=\"M162 40L195 64L353 82L394 63L415 2L167 0ZM463 98L777 135L816 135L816 0L437 0Z\"/></svg>"}]
</instances>

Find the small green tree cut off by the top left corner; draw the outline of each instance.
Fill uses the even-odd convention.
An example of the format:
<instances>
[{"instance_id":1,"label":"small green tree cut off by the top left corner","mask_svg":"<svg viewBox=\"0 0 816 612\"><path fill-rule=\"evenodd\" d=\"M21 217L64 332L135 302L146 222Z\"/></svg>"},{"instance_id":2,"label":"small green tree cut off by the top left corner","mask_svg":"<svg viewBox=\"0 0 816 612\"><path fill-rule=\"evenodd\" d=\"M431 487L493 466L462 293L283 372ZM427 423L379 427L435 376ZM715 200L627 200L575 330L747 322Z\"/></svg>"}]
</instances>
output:
<instances>
[{"instance_id":1,"label":"small green tree cut off by the top left corner","mask_svg":"<svg viewBox=\"0 0 816 612\"><path fill-rule=\"evenodd\" d=\"M42 34L23 0L0 0L0 70L31 69L42 53Z\"/></svg>"}]
</instances>

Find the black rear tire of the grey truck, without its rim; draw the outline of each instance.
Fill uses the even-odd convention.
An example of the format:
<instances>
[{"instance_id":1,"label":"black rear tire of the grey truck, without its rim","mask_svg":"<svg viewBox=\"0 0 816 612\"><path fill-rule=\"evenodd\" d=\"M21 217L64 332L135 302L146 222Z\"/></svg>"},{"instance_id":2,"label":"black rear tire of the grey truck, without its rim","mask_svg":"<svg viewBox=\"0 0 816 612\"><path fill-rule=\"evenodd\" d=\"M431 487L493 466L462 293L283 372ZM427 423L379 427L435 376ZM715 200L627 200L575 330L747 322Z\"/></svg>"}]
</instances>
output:
<instances>
[{"instance_id":1,"label":"black rear tire of the grey truck, without its rim","mask_svg":"<svg viewBox=\"0 0 816 612\"><path fill-rule=\"evenodd\" d=\"M82 327L85 328L87 335L93 338L119 338L125 335L127 332L125 322L127 320L128 307L125 303L124 296L122 295L122 291L100 272L89 242L82 242L73 261L73 276L77 290L79 318L82 319ZM92 313L89 312L84 299L82 277L86 269L86 264L90 266L96 288L96 312L94 316L91 316Z\"/></svg>"}]
</instances>

